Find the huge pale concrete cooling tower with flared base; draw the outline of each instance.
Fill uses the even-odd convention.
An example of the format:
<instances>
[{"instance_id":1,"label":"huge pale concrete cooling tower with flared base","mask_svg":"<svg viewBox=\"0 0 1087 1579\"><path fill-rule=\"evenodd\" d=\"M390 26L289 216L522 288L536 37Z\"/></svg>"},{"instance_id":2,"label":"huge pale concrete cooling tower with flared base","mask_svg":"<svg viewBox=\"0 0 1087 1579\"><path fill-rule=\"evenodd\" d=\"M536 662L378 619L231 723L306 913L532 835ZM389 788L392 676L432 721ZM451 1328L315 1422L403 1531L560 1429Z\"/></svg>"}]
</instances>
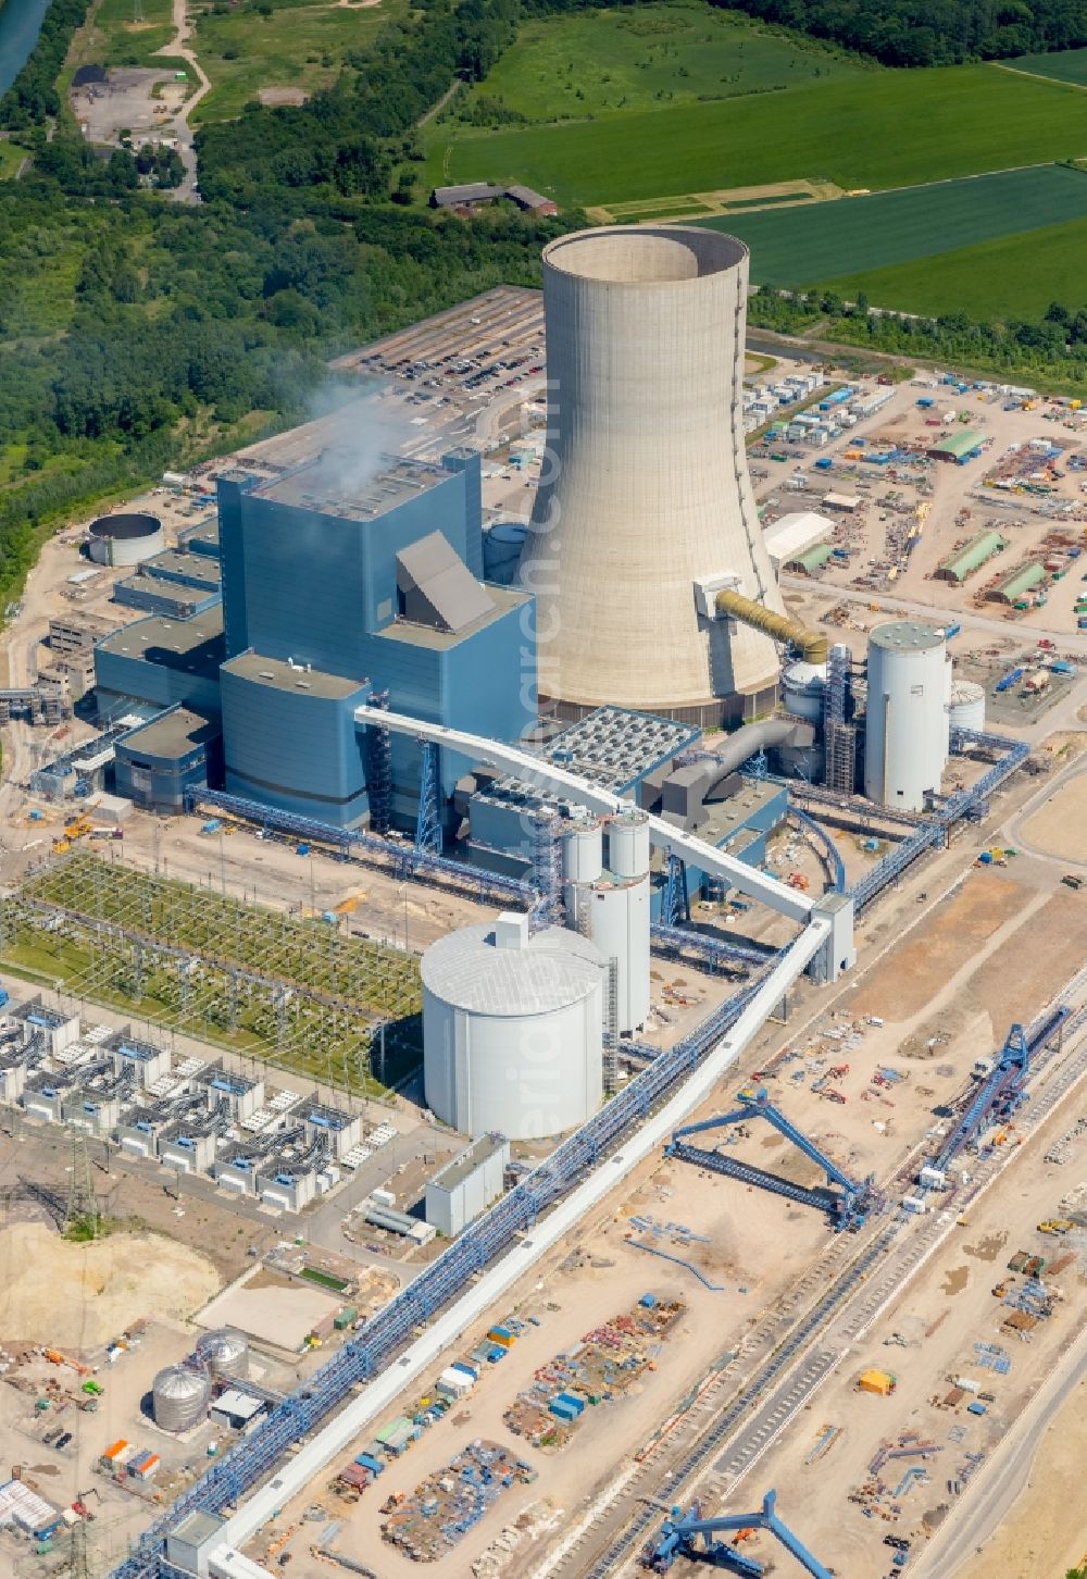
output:
<instances>
[{"instance_id":1,"label":"huge pale concrete cooling tower with flared base","mask_svg":"<svg viewBox=\"0 0 1087 1579\"><path fill-rule=\"evenodd\" d=\"M541 696L566 717L760 711L775 643L715 617L721 589L783 613L740 412L748 249L617 226L543 259L549 453L519 568L538 600Z\"/></svg>"}]
</instances>

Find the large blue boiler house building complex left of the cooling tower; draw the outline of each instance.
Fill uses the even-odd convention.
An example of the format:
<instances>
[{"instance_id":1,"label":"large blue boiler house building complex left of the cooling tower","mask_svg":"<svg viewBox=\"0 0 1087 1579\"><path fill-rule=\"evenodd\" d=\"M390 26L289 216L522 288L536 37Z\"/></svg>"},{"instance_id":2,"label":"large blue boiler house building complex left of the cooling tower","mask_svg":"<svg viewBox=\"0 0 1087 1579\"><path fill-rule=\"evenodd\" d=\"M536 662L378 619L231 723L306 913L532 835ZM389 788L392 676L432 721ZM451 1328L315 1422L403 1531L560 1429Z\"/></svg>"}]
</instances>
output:
<instances>
[{"instance_id":1,"label":"large blue boiler house building complex left of the cooling tower","mask_svg":"<svg viewBox=\"0 0 1087 1579\"><path fill-rule=\"evenodd\" d=\"M336 827L372 815L374 750L353 717L372 696L503 741L536 723L533 600L483 581L475 452L440 464L363 467L334 448L290 471L251 463L219 477L218 507L221 608L137 621L99 644L99 709L117 717L131 699L200 714L221 726L207 761L215 772L221 759L229 793ZM188 750L177 796L156 753L159 807L192 786L191 737L174 736ZM446 807L469 767L442 753ZM382 785L393 823L413 824L418 783L418 744L393 737Z\"/></svg>"}]
</instances>

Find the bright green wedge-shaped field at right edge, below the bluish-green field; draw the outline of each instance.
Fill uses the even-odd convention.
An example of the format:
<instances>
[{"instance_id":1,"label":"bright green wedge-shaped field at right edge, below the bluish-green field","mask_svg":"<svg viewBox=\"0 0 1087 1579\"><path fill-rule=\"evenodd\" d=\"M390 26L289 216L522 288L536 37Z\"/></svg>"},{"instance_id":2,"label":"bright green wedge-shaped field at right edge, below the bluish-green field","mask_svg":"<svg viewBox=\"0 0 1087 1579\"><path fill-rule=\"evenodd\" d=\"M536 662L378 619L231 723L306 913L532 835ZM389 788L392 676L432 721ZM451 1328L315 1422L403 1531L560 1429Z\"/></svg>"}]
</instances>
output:
<instances>
[{"instance_id":1,"label":"bright green wedge-shaped field at right edge, below the bluish-green field","mask_svg":"<svg viewBox=\"0 0 1087 1579\"><path fill-rule=\"evenodd\" d=\"M1087 219L1003 235L939 257L824 279L846 300L865 291L876 306L904 313L967 313L981 319L1037 319L1051 302L1087 305Z\"/></svg>"}]
</instances>

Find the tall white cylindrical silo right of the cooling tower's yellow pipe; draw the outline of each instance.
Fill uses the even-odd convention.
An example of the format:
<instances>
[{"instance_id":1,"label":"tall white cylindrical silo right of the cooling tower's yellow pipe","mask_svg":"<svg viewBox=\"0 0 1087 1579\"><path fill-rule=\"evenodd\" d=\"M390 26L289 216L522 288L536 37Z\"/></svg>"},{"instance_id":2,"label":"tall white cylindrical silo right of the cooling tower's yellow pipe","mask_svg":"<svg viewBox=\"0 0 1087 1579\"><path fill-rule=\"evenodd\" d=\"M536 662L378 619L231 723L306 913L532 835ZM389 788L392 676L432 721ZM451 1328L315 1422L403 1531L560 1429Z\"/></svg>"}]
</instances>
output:
<instances>
[{"instance_id":1,"label":"tall white cylindrical silo right of the cooling tower's yellow pipe","mask_svg":"<svg viewBox=\"0 0 1087 1579\"><path fill-rule=\"evenodd\" d=\"M943 632L918 619L877 625L868 641L865 794L925 810L948 759L951 658Z\"/></svg>"}]
</instances>

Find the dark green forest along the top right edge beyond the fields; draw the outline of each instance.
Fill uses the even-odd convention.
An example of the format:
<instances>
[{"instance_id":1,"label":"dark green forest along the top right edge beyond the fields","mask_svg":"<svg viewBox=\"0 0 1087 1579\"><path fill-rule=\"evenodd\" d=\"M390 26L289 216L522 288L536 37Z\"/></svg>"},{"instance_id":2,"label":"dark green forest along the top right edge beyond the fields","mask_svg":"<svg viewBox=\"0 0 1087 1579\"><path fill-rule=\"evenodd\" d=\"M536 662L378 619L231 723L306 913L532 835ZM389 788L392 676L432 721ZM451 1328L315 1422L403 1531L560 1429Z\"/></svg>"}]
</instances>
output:
<instances>
[{"instance_id":1,"label":"dark green forest along the top right edge beyond the fields","mask_svg":"<svg viewBox=\"0 0 1087 1579\"><path fill-rule=\"evenodd\" d=\"M951 66L1087 44L1084 0L710 0L888 66Z\"/></svg>"}]
</instances>

